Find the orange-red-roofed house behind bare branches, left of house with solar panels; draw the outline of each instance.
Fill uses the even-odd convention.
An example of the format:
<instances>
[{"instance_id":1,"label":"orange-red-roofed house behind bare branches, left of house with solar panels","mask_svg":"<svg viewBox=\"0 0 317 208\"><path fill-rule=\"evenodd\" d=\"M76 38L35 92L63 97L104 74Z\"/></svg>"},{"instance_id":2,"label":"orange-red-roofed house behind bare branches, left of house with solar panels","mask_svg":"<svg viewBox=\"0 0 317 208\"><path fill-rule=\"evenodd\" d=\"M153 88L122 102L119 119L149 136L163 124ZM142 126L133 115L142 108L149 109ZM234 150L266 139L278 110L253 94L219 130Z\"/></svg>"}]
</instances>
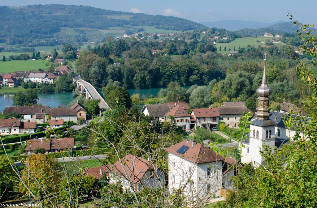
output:
<instances>
[{"instance_id":1,"label":"orange-red-roofed house behind bare branches, left of house with solar panels","mask_svg":"<svg viewBox=\"0 0 317 208\"><path fill-rule=\"evenodd\" d=\"M85 174L101 179L103 174L109 183L121 184L124 192L138 192L144 187L161 187L164 185L164 173L151 161L127 154L114 164L88 168Z\"/></svg>"}]
</instances>

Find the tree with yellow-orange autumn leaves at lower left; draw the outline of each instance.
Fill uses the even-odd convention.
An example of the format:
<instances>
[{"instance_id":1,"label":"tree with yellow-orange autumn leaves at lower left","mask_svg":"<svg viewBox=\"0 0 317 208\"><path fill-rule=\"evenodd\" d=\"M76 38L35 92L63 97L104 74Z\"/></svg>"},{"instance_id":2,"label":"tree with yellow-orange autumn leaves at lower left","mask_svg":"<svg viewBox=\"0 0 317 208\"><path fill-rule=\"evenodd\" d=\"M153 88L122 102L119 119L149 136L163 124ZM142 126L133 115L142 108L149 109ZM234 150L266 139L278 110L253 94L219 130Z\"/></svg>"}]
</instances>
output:
<instances>
[{"instance_id":1,"label":"tree with yellow-orange autumn leaves at lower left","mask_svg":"<svg viewBox=\"0 0 317 208\"><path fill-rule=\"evenodd\" d=\"M42 199L45 191L54 192L55 185L61 178L60 164L45 154L31 154L29 164L20 172L19 192L29 193L27 187Z\"/></svg>"}]
</instances>

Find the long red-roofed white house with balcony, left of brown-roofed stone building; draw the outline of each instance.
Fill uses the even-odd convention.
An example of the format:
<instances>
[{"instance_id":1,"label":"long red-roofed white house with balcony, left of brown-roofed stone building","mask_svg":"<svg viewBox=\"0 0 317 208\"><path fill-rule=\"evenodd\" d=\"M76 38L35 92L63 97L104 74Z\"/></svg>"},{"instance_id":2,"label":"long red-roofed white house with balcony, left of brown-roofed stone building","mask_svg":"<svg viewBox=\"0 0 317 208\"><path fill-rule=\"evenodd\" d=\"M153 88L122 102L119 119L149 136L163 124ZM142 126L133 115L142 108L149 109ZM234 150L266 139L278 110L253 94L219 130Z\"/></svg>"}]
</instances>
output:
<instances>
[{"instance_id":1,"label":"long red-roofed white house with balcony, left of brown-roofed stone building","mask_svg":"<svg viewBox=\"0 0 317 208\"><path fill-rule=\"evenodd\" d=\"M203 128L216 127L220 115L217 108L194 108L192 109L191 116L195 118L195 126Z\"/></svg>"}]
</instances>

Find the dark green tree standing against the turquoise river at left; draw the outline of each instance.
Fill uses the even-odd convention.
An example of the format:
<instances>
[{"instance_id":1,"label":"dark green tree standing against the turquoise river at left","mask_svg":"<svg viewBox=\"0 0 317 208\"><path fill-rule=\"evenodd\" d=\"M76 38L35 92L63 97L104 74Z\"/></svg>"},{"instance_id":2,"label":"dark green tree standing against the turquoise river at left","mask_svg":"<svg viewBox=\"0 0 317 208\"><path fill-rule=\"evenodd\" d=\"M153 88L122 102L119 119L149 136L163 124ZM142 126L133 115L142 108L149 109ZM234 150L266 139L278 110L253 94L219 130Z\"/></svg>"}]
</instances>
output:
<instances>
[{"instance_id":1,"label":"dark green tree standing against the turquoise river at left","mask_svg":"<svg viewBox=\"0 0 317 208\"><path fill-rule=\"evenodd\" d=\"M21 105L35 105L37 104L38 95L36 90L25 90L15 92L13 95L13 105L21 106Z\"/></svg>"}]
</instances>

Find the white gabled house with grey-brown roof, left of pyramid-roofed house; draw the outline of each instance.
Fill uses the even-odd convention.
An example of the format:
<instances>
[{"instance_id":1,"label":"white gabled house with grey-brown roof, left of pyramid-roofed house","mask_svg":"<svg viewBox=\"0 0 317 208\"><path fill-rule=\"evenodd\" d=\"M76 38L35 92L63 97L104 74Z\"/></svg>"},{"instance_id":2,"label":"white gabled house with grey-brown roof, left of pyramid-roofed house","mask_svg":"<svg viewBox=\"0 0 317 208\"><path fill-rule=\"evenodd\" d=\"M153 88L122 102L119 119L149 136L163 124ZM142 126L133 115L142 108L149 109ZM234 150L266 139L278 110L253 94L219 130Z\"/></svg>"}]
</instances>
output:
<instances>
[{"instance_id":1,"label":"white gabled house with grey-brown roof, left of pyramid-roofed house","mask_svg":"<svg viewBox=\"0 0 317 208\"><path fill-rule=\"evenodd\" d=\"M153 116L155 119L159 119L161 122L165 121L165 114L170 111L170 107L168 104L152 104L152 105L144 105L141 112L145 116Z\"/></svg>"}]
</instances>

